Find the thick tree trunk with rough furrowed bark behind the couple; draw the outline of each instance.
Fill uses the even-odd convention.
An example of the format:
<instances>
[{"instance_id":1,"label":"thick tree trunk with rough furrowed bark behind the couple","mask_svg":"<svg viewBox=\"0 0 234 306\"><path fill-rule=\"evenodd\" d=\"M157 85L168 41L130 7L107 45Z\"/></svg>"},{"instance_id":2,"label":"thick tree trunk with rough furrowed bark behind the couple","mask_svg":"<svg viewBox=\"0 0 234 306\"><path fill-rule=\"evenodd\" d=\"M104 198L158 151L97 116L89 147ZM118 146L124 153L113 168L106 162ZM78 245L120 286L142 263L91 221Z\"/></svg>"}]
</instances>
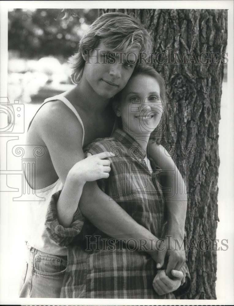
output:
<instances>
[{"instance_id":1,"label":"thick tree trunk with rough furrowed bark behind the couple","mask_svg":"<svg viewBox=\"0 0 234 306\"><path fill-rule=\"evenodd\" d=\"M166 133L160 141L179 166L188 190L185 230L186 245L191 248L186 256L192 285L183 298L216 299L217 254L197 248L203 238L209 239L209 248L212 247L219 221L218 127L224 65L211 62L225 52L227 10L100 9L99 13L113 11L134 13L152 35L155 54L165 52L165 57L156 57L154 66L164 77L172 119L168 117ZM199 60L202 52L208 52L207 64L201 63L204 58ZM175 53L179 55L176 62ZM160 64L163 59L165 62Z\"/></svg>"}]
</instances>

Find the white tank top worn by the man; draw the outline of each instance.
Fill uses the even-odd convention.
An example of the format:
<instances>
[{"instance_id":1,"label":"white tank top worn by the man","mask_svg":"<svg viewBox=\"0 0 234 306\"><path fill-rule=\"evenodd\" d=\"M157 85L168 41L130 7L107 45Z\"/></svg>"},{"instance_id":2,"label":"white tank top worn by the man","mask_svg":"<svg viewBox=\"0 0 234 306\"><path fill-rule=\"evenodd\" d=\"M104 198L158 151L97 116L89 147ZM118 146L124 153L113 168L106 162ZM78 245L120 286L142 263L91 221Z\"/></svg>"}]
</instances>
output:
<instances>
[{"instance_id":1,"label":"white tank top worn by the man","mask_svg":"<svg viewBox=\"0 0 234 306\"><path fill-rule=\"evenodd\" d=\"M40 106L40 108L49 101L59 100L62 101L70 110L76 115L77 120L80 122L83 137L82 137L82 147L84 144L84 136L85 130L83 122L77 113L77 110L74 106L62 95L56 95L52 98L45 99L44 103ZM39 108L39 109L40 109ZM38 110L39 110L38 109ZM37 111L38 111L37 110ZM36 114L35 114L36 115ZM35 117L34 115L34 117ZM33 118L34 118L33 117ZM33 120L32 118L32 120ZM32 123L32 120L29 124L29 127ZM28 127L28 128L29 128ZM42 189L36 189L32 191L32 188L28 185L26 181L26 188L30 189L30 201L26 201L26 235L28 243L33 247L42 252L52 254L52 255L67 255L66 247L60 247L56 244L47 234L47 230L45 228L45 216L47 212L48 204L50 203L51 196L62 189L62 182L58 179L55 183L51 184ZM36 193L35 193L36 192ZM35 196L35 199L32 199L32 196ZM43 198L42 200L39 197Z\"/></svg>"}]
</instances>

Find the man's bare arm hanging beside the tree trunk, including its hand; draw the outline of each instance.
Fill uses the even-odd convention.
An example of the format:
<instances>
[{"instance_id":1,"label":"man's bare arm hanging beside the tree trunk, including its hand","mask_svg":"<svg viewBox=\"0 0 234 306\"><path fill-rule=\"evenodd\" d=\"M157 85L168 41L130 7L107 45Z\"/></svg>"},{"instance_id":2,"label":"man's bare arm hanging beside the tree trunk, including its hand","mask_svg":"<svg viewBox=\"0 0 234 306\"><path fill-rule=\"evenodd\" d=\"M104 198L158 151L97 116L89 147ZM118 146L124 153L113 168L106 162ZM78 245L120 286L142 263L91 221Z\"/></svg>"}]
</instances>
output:
<instances>
[{"instance_id":1,"label":"man's bare arm hanging beside the tree trunk, including its hand","mask_svg":"<svg viewBox=\"0 0 234 306\"><path fill-rule=\"evenodd\" d=\"M181 245L184 239L184 225L187 210L187 191L179 170L175 166L172 158L164 147L156 142L149 142L149 155L154 159L156 164L170 174L164 174L160 181L161 185L168 189L164 191L166 211L167 211L167 230L165 243L160 248L169 248L168 265L166 274L170 275L172 269L179 270L185 262L185 253L183 248L179 250L178 244ZM163 173L163 171L162 171ZM160 174L161 175L161 174ZM181 192L182 190L182 192ZM176 244L176 240L178 243ZM163 264L166 252L159 252L160 262Z\"/></svg>"}]
</instances>

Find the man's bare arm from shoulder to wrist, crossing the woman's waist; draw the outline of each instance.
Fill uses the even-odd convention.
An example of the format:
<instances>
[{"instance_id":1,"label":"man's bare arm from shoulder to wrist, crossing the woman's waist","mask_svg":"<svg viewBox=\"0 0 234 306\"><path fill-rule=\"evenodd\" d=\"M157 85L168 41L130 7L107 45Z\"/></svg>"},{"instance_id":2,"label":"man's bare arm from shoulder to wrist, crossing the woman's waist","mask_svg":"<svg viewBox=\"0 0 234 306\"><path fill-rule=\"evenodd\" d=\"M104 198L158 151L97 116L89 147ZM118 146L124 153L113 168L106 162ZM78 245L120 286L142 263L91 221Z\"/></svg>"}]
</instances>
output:
<instances>
[{"instance_id":1,"label":"man's bare arm from shoulder to wrist, crossing the woman's waist","mask_svg":"<svg viewBox=\"0 0 234 306\"><path fill-rule=\"evenodd\" d=\"M40 122L40 136L48 148L58 177L65 184L69 170L84 159L82 128L75 115L63 103L53 103L47 107L49 109L43 108L37 118ZM92 224L111 237L134 239L138 247L141 246L139 241L144 239L145 248L151 247L149 253L154 259L157 258L157 237L138 224L116 202L110 203L109 197L100 190L96 181L85 183L79 208Z\"/></svg>"}]
</instances>

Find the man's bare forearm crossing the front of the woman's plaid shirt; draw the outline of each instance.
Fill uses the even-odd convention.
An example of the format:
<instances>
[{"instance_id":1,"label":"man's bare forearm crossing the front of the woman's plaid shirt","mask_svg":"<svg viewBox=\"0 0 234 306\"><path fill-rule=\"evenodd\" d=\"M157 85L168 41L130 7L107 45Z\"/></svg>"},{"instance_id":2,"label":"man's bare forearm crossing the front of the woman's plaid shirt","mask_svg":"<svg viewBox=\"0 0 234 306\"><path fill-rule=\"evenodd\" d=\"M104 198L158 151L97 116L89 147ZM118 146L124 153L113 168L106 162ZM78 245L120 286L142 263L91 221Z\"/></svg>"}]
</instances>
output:
<instances>
[{"instance_id":1,"label":"man's bare forearm crossing the front of the woman's plaid shirt","mask_svg":"<svg viewBox=\"0 0 234 306\"><path fill-rule=\"evenodd\" d=\"M96 182L85 183L79 208L93 225L109 236L126 241L133 239L139 249L142 243L145 244L143 250L146 250L157 261L158 238L144 226L138 224L116 202L110 202L109 196L100 190ZM130 244L135 246L133 242Z\"/></svg>"}]
</instances>

